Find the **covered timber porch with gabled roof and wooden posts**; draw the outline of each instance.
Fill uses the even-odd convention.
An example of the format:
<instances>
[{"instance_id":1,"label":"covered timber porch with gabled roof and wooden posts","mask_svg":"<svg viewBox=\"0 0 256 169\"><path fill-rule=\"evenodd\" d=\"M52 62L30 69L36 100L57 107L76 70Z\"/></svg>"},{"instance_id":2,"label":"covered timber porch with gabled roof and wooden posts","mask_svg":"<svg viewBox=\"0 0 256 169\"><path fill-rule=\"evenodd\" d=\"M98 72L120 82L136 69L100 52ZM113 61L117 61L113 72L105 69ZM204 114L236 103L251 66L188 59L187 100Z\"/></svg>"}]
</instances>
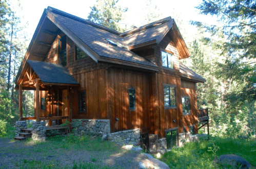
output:
<instances>
[{"instance_id":1,"label":"covered timber porch with gabled roof and wooden posts","mask_svg":"<svg viewBox=\"0 0 256 169\"><path fill-rule=\"evenodd\" d=\"M72 99L70 92L79 86L78 82L60 65L27 60L15 89L19 90L19 116L21 120L35 119L36 122L52 120L57 125L71 122ZM34 90L34 116L23 117L22 91Z\"/></svg>"}]
</instances>

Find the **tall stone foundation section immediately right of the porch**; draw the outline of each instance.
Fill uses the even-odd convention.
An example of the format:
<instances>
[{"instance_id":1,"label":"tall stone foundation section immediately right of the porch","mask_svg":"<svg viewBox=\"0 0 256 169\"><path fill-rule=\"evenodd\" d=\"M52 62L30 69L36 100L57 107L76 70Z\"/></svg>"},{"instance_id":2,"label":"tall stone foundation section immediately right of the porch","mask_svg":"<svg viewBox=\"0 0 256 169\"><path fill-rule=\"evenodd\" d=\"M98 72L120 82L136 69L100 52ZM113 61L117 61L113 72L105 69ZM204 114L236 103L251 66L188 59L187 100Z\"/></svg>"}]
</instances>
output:
<instances>
[{"instance_id":1,"label":"tall stone foundation section immediately right of the porch","mask_svg":"<svg viewBox=\"0 0 256 169\"><path fill-rule=\"evenodd\" d=\"M72 127L75 135L102 136L110 133L109 119L72 119Z\"/></svg>"}]
</instances>

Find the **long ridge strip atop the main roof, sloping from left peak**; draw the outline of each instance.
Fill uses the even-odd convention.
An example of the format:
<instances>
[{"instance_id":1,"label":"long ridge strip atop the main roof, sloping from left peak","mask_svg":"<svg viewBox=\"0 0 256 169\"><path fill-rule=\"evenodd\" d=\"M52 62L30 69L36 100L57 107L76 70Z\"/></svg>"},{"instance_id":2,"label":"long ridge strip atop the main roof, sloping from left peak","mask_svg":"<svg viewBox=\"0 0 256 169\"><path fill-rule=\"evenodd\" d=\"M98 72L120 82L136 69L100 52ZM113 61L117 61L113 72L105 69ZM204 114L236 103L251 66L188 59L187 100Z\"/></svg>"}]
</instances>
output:
<instances>
[{"instance_id":1,"label":"long ridge strip atop the main roof, sloping from left peak","mask_svg":"<svg viewBox=\"0 0 256 169\"><path fill-rule=\"evenodd\" d=\"M90 21L90 20L83 19L83 18L81 18L81 17L78 17L78 16L75 16L75 15L69 14L69 13L67 13L67 12L58 10L58 9L56 9L56 8L53 8L53 7L49 7L49 6L48 6L47 10L49 10L49 11L51 11L51 12L53 12L53 13L56 13L56 14L59 14L59 15L68 17L68 18L70 18L70 19L76 20L76 21L84 22L84 23L86 23L86 24L88 24L88 25L90 25L90 26L103 29L103 30L105 30L105 31L114 33L114 34L116 34L116 35L119 35L119 34L120 34L120 32L118 32L118 31L112 30L112 29L107 28L107 27L105 27L105 26L102 26L102 25L100 25L100 24L98 24L98 23L94 23L94 22L92 22L92 21Z\"/></svg>"}]
</instances>

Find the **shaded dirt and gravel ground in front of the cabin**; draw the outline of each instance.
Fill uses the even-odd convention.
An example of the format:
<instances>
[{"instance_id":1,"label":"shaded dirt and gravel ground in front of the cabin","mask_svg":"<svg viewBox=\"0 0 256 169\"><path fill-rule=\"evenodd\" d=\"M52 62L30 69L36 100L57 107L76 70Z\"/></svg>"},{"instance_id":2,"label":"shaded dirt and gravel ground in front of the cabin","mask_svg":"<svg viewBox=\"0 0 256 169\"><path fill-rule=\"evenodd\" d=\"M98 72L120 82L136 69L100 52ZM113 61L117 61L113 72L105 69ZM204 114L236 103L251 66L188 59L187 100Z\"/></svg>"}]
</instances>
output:
<instances>
[{"instance_id":1,"label":"shaded dirt and gravel ground in front of the cabin","mask_svg":"<svg viewBox=\"0 0 256 169\"><path fill-rule=\"evenodd\" d=\"M102 166L113 166L113 168L138 168L139 162L144 158L141 153L127 150L112 152L51 149L45 148L44 144L34 144L33 141L13 141L9 138L0 138L0 168L18 168L17 163L28 160L57 161L60 166L70 167L74 163L91 162Z\"/></svg>"}]
</instances>

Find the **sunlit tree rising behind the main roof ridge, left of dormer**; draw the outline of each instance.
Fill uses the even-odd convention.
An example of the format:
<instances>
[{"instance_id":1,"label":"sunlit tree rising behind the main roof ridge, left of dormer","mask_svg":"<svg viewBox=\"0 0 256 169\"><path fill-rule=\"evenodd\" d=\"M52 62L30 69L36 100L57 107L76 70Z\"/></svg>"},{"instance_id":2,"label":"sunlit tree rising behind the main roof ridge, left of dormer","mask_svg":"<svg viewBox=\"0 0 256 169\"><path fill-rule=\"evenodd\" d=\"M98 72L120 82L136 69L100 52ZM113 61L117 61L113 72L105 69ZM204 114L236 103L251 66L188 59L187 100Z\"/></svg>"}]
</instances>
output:
<instances>
[{"instance_id":1,"label":"sunlit tree rising behind the main roof ridge, left of dormer","mask_svg":"<svg viewBox=\"0 0 256 169\"><path fill-rule=\"evenodd\" d=\"M120 21L127 8L117 6L118 0L96 0L91 8L88 19L116 31L122 31Z\"/></svg>"}]
</instances>

